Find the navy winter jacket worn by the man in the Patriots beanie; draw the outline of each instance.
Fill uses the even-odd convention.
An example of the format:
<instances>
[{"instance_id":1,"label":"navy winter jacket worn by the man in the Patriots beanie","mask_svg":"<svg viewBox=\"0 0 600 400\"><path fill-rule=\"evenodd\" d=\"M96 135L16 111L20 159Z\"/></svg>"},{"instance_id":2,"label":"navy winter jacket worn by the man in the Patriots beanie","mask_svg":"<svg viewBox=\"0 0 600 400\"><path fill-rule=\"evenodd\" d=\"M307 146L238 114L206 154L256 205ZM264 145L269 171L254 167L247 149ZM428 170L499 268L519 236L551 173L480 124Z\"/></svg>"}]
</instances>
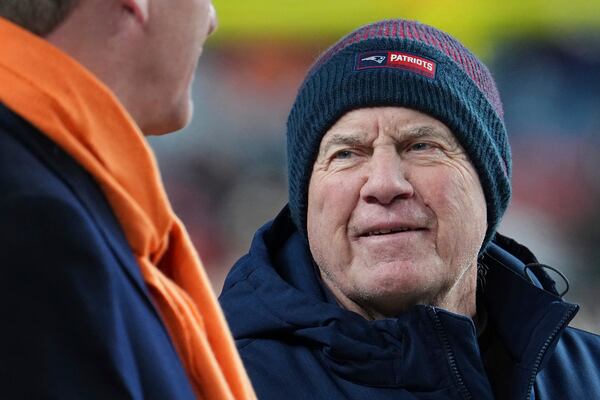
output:
<instances>
[{"instance_id":1,"label":"navy winter jacket worn by the man in the Patriots beanie","mask_svg":"<svg viewBox=\"0 0 600 400\"><path fill-rule=\"evenodd\" d=\"M482 262L479 337L470 318L432 306L367 321L322 286L286 208L220 301L261 400L600 399L600 337L567 327L578 306L510 239Z\"/></svg>"}]
</instances>

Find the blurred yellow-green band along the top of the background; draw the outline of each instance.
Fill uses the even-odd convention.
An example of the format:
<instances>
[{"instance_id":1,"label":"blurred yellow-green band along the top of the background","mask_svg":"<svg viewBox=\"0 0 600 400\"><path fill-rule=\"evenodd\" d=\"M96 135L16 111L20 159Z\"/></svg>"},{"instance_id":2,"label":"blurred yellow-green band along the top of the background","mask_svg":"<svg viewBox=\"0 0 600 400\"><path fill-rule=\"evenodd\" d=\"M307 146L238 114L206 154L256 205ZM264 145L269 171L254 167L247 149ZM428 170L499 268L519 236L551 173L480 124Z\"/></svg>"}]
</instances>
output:
<instances>
[{"instance_id":1,"label":"blurred yellow-green band along the top of the background","mask_svg":"<svg viewBox=\"0 0 600 400\"><path fill-rule=\"evenodd\" d=\"M596 30L600 2L558 0L214 0L220 20L212 39L332 41L360 25L409 18L433 25L481 57L499 41Z\"/></svg>"}]
</instances>

